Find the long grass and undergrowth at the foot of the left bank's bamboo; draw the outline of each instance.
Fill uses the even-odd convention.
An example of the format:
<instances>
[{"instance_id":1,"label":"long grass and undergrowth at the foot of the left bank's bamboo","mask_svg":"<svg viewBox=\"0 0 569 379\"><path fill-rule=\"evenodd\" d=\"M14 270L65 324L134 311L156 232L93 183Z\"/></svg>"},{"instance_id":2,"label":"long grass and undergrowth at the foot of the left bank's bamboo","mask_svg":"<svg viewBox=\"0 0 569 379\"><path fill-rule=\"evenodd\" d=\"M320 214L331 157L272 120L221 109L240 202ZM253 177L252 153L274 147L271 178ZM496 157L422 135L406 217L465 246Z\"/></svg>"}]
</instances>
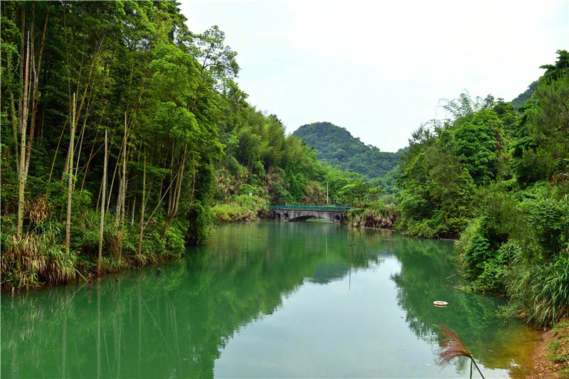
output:
<instances>
[{"instance_id":1,"label":"long grass and undergrowth at the foot of the left bank's bamboo","mask_svg":"<svg viewBox=\"0 0 569 379\"><path fill-rule=\"evenodd\" d=\"M36 289L74 280L85 280L97 272L100 215L83 212L71 227L69 249L65 247L65 225L49 215L38 220L21 239L14 233L13 217L2 217L1 290ZM101 274L119 272L181 257L185 252L184 230L179 220L164 231L164 223L149 223L142 235L127 223L124 229L110 217L102 240Z\"/></svg>"}]
</instances>

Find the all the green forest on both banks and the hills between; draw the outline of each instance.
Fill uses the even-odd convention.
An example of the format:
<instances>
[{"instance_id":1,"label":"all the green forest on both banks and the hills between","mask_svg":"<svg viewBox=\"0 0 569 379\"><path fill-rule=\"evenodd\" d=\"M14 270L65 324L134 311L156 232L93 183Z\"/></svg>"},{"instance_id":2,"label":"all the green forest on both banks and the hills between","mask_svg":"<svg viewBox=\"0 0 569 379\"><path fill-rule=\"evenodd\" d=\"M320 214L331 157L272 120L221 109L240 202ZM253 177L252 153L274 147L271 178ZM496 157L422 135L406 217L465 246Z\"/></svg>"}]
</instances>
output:
<instances>
[{"instance_id":1,"label":"all the green forest on both banks and the hills between","mask_svg":"<svg viewBox=\"0 0 569 379\"><path fill-rule=\"evenodd\" d=\"M287 135L248 104L223 31L189 31L175 1L2 1L1 26L3 290L179 257L329 188L354 226L457 239L472 289L512 314L568 314L567 51L516 105L464 92L395 154L328 123Z\"/></svg>"}]
</instances>

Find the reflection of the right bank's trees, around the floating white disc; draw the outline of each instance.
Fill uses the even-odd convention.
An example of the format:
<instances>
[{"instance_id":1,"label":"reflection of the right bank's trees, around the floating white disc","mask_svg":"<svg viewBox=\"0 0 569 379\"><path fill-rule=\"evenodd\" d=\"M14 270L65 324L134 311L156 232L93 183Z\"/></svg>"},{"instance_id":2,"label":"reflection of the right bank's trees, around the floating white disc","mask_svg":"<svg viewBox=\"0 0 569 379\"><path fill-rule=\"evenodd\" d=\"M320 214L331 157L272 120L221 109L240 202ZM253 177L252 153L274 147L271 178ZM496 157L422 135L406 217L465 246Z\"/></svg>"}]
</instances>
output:
<instances>
[{"instance_id":1,"label":"reflection of the right bank's trees, around the floating white disc","mask_svg":"<svg viewBox=\"0 0 569 379\"><path fill-rule=\"evenodd\" d=\"M510 368L519 338L519 323L500 319L499 306L504 299L464 292L457 274L452 243L405 238L397 251L401 270L392 279L398 287L398 304L406 311L410 329L427 341L437 340L435 324L444 324L457 332L469 351L487 368ZM432 301L449 302L437 308ZM485 338L480 338L485 336ZM496 353L499 352L499 353ZM460 369L464 362L459 362Z\"/></svg>"}]
</instances>

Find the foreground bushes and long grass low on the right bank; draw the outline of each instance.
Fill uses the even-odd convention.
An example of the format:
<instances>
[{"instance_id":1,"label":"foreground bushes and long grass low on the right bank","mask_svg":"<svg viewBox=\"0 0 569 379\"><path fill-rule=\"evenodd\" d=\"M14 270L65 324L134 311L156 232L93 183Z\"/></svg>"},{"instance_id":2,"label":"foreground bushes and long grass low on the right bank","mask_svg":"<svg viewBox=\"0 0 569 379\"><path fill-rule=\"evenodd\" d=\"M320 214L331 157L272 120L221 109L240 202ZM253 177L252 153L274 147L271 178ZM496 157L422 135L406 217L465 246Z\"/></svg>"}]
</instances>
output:
<instances>
[{"instance_id":1,"label":"foreground bushes and long grass low on the right bank","mask_svg":"<svg viewBox=\"0 0 569 379\"><path fill-rule=\"evenodd\" d=\"M511 308L535 324L567 315L569 208L563 187L481 191L479 210L455 244L472 287L506 292Z\"/></svg>"}]
</instances>

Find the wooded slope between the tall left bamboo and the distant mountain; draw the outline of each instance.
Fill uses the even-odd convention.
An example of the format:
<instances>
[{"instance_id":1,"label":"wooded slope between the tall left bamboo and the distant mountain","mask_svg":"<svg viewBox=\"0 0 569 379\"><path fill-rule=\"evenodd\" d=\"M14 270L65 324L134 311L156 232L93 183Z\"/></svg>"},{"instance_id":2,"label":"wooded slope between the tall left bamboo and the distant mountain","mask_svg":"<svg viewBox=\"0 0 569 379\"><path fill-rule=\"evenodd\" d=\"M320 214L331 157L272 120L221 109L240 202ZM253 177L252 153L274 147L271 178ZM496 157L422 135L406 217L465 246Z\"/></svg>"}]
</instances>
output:
<instances>
[{"instance_id":1,"label":"wooded slope between the tall left bamboo and the distant mountain","mask_svg":"<svg viewBox=\"0 0 569 379\"><path fill-rule=\"evenodd\" d=\"M219 186L214 193L220 222L258 217L253 216L256 210L235 205L236 196L248 193L270 203L325 203L326 169L314 151L296 137L285 136L275 114L243 105L235 124L225 124L221 130L225 156L216 169Z\"/></svg>"}]
</instances>

